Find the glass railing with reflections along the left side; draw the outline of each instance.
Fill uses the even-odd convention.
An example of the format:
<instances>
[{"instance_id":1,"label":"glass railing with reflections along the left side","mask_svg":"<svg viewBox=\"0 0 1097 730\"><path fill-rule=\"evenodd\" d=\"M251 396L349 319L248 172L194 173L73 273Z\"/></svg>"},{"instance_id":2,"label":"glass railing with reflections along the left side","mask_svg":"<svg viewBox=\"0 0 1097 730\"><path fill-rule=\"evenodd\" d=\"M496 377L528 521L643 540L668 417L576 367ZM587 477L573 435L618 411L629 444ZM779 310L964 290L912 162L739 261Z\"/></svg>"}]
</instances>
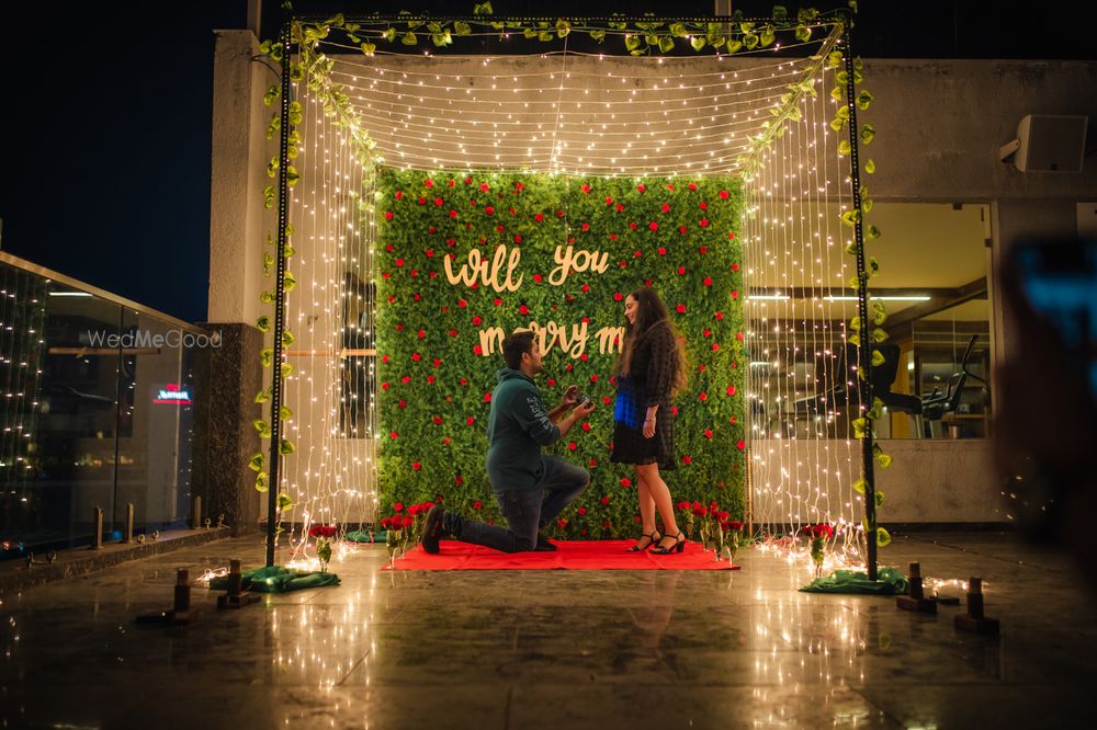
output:
<instances>
[{"instance_id":1,"label":"glass railing with reflections along the left side","mask_svg":"<svg viewBox=\"0 0 1097 730\"><path fill-rule=\"evenodd\" d=\"M0 253L0 557L185 525L202 328Z\"/></svg>"}]
</instances>

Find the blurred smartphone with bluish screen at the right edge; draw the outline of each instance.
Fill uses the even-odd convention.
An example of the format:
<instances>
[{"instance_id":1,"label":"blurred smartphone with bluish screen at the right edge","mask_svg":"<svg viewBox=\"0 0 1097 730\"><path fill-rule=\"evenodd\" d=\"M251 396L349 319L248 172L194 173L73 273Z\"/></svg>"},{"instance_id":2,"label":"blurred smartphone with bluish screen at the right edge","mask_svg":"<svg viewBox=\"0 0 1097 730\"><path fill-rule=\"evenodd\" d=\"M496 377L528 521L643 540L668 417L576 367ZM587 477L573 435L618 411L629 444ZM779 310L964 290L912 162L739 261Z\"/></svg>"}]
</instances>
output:
<instances>
[{"instance_id":1,"label":"blurred smartphone with bluish screen at the right edge","mask_svg":"<svg viewBox=\"0 0 1097 730\"><path fill-rule=\"evenodd\" d=\"M1097 239L1025 243L1013 250L1021 292L1063 343L1067 366L1097 400Z\"/></svg>"}]
</instances>

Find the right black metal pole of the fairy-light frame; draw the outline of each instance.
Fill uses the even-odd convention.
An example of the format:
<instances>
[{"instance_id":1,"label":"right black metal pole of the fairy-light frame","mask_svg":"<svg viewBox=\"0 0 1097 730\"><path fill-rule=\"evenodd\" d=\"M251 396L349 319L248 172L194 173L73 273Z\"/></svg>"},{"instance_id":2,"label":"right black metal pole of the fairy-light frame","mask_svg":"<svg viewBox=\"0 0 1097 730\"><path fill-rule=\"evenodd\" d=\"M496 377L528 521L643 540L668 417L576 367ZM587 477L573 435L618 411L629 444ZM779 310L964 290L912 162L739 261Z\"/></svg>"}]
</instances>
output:
<instances>
[{"instance_id":1,"label":"right black metal pole of the fairy-light frame","mask_svg":"<svg viewBox=\"0 0 1097 730\"><path fill-rule=\"evenodd\" d=\"M861 169L857 153L857 84L853 81L853 44L851 43L852 19L847 16L842 32L846 47L846 107L849 110L849 163L850 186L853 189L853 244L857 250L857 317L861 323L860 341L857 349L857 389L860 395L860 418L867 418L872 409L872 332L869 328L869 278L864 274L864 226L861 214ZM864 472L864 522L868 525L864 539L868 543L869 580L877 580L877 489L872 469L872 422L864 429L861 440L861 469Z\"/></svg>"}]
</instances>

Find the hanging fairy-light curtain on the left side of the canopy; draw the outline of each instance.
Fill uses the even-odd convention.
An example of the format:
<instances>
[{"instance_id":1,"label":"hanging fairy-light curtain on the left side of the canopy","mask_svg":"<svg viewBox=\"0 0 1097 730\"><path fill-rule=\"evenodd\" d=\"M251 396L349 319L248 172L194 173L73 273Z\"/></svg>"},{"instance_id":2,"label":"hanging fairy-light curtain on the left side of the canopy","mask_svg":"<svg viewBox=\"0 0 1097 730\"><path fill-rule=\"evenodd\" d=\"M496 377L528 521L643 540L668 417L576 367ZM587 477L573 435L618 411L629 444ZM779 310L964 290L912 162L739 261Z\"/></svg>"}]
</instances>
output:
<instances>
[{"instance_id":1,"label":"hanging fairy-light curtain on the left side of the canopy","mask_svg":"<svg viewBox=\"0 0 1097 730\"><path fill-rule=\"evenodd\" d=\"M306 549L309 528L353 528L376 507L372 377L360 377L363 368L373 369L372 317L360 313L375 305L361 166L346 130L325 115L316 96L304 84L294 89L302 94L303 144L295 162L303 182L291 196L296 285L286 294L286 321L295 339L285 356L294 370L283 403L295 450L283 457L280 492L291 503L282 512L284 527L293 526L291 562L315 569Z\"/></svg>"}]
</instances>

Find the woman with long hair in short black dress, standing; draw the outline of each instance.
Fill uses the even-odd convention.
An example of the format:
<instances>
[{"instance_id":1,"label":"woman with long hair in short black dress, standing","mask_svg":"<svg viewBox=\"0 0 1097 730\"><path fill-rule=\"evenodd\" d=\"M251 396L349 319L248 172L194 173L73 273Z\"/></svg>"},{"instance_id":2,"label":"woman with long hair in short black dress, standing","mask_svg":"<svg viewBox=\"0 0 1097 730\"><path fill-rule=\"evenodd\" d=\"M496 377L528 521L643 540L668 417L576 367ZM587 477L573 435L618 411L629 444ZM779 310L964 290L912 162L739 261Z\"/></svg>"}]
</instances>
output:
<instances>
[{"instance_id":1,"label":"woman with long hair in short black dress, standing","mask_svg":"<svg viewBox=\"0 0 1097 730\"><path fill-rule=\"evenodd\" d=\"M670 399L686 385L683 346L666 306L646 286L625 297L624 318L624 346L613 368L618 400L611 460L636 469L644 533L629 549L640 551L655 545L653 552L659 555L681 552L686 536L678 529L670 489L659 468L676 467ZM656 511L666 535L655 529Z\"/></svg>"}]
</instances>

